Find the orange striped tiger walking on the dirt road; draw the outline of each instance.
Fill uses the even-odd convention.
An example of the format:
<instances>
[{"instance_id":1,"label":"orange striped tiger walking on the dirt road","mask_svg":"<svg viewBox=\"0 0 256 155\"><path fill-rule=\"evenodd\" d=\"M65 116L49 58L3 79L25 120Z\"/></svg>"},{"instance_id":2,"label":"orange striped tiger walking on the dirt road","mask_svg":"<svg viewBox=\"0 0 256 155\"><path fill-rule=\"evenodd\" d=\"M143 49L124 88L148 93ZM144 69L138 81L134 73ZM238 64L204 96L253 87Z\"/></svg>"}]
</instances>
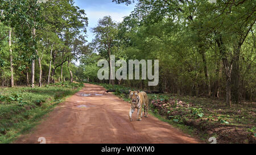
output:
<instances>
[{"instance_id":1,"label":"orange striped tiger walking on the dirt road","mask_svg":"<svg viewBox=\"0 0 256 155\"><path fill-rule=\"evenodd\" d=\"M141 121L142 119L142 106L144 106L144 117L148 118L148 99L147 99L147 93L144 91L130 91L129 98L131 99L131 108L129 112L129 119L130 122L133 121L131 119L131 115L133 115L133 112L135 111L135 108L137 108L137 121Z\"/></svg>"}]
</instances>

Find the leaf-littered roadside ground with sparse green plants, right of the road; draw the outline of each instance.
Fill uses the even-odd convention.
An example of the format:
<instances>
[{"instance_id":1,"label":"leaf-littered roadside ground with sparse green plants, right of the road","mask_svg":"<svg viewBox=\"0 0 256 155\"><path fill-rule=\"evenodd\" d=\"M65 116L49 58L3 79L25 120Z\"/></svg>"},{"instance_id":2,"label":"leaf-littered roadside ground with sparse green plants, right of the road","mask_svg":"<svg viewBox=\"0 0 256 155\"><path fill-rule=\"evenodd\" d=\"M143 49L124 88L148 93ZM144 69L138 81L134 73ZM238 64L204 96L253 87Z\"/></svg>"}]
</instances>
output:
<instances>
[{"instance_id":1,"label":"leaf-littered roadside ground with sparse green plants, right of the road","mask_svg":"<svg viewBox=\"0 0 256 155\"><path fill-rule=\"evenodd\" d=\"M125 86L94 83L108 90L134 90ZM116 89L118 88L118 89ZM139 90L139 89L137 89ZM114 93L129 102L127 94ZM150 114L193 137L210 143L256 143L256 103L242 102L230 108L224 100L177 94L148 94Z\"/></svg>"}]
</instances>

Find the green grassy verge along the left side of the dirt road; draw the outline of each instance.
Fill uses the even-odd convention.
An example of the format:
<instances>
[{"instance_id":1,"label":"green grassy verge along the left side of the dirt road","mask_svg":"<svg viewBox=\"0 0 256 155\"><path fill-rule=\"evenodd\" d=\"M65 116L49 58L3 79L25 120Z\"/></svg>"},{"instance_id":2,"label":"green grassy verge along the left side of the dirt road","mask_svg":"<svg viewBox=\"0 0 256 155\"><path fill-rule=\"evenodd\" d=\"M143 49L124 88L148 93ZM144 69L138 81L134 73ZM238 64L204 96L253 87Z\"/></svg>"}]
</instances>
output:
<instances>
[{"instance_id":1,"label":"green grassy verge along the left side of the dirt road","mask_svg":"<svg viewBox=\"0 0 256 155\"><path fill-rule=\"evenodd\" d=\"M28 133L65 98L82 84L56 83L44 87L0 87L0 143L9 144Z\"/></svg>"}]
</instances>

